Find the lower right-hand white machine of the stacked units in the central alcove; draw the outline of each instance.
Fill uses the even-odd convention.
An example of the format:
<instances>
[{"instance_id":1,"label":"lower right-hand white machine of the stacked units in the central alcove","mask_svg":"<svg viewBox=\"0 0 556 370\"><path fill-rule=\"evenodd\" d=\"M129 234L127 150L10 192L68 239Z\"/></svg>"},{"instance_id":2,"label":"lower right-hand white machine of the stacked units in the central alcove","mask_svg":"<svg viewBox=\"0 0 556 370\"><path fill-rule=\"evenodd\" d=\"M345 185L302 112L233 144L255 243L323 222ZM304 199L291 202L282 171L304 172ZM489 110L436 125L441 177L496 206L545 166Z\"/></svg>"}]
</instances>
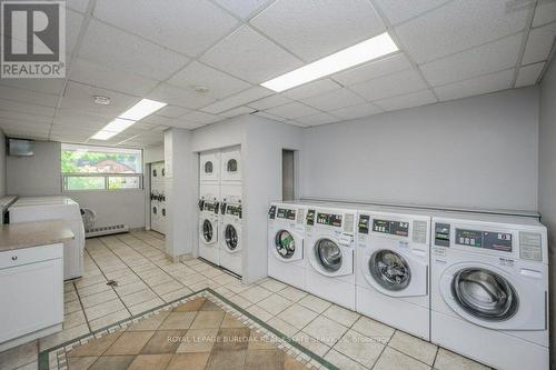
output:
<instances>
[{"instance_id":1,"label":"lower right-hand white machine of the stacked units in the central alcove","mask_svg":"<svg viewBox=\"0 0 556 370\"><path fill-rule=\"evenodd\" d=\"M241 204L220 204L220 266L241 276Z\"/></svg>"}]
</instances>

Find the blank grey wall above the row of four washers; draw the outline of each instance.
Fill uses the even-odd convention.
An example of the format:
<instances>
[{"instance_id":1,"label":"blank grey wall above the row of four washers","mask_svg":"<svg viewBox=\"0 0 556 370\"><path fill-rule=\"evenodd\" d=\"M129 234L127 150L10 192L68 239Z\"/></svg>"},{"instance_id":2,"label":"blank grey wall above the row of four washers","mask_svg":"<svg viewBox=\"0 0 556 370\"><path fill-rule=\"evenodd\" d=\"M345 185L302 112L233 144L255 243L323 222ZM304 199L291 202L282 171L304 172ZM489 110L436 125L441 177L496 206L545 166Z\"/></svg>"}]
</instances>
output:
<instances>
[{"instance_id":1,"label":"blank grey wall above the row of four washers","mask_svg":"<svg viewBox=\"0 0 556 370\"><path fill-rule=\"evenodd\" d=\"M302 197L537 210L538 89L305 132Z\"/></svg>"}]
</instances>

